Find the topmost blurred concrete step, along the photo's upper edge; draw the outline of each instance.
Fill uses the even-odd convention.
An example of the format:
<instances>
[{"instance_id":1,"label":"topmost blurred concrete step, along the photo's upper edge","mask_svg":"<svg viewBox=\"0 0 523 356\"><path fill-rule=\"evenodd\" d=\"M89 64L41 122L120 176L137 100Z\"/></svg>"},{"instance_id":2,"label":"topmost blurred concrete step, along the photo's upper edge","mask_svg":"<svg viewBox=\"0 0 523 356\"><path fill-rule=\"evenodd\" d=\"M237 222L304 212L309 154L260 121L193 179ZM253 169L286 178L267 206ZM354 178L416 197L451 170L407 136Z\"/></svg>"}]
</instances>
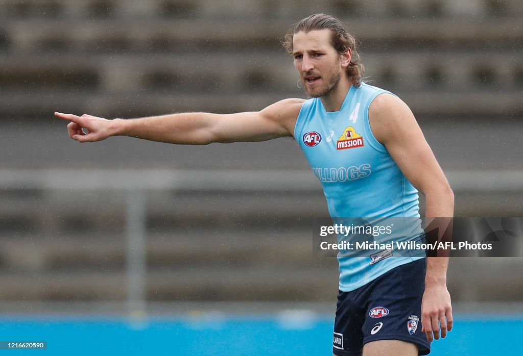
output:
<instances>
[{"instance_id":1,"label":"topmost blurred concrete step, along the photo's upper edge","mask_svg":"<svg viewBox=\"0 0 523 356\"><path fill-rule=\"evenodd\" d=\"M291 17L295 20L313 13L334 13L338 16L373 17L489 17L521 13L520 2L484 2L469 0L454 2L442 0L367 0L365 3L328 0L321 4L303 0L300 6L290 0L264 2L243 2L230 0L70 0L67 2L49 0L1 0L0 13L9 17L22 18L122 18L137 17L202 17L219 18L270 18Z\"/></svg>"}]
</instances>

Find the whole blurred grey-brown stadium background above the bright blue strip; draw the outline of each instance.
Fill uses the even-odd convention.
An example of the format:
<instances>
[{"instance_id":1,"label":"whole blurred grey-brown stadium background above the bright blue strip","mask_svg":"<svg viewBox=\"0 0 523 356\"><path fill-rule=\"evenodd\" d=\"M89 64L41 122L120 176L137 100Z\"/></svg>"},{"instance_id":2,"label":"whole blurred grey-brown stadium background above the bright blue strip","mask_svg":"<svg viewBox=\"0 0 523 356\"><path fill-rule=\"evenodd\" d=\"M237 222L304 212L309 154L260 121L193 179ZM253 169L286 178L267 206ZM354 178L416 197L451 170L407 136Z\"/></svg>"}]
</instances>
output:
<instances>
[{"instance_id":1,"label":"whole blurred grey-brown stadium background above the bright blue strip","mask_svg":"<svg viewBox=\"0 0 523 356\"><path fill-rule=\"evenodd\" d=\"M367 82L413 110L456 216L522 216L520 0L0 0L0 315L290 309L331 323L337 262L312 255L310 225L326 203L292 139L81 145L52 115L303 98L280 40L320 12L360 40ZM454 308L523 310L521 268L453 259Z\"/></svg>"}]
</instances>

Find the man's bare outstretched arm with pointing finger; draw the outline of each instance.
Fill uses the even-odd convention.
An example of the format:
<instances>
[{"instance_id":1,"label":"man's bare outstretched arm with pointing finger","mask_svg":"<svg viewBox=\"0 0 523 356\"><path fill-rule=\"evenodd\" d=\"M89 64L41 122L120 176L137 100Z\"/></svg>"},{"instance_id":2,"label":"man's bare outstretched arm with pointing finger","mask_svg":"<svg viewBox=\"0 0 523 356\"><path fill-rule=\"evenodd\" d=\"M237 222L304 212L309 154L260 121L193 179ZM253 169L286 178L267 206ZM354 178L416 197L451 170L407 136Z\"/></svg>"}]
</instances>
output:
<instances>
[{"instance_id":1,"label":"man's bare outstretched arm with pointing finger","mask_svg":"<svg viewBox=\"0 0 523 356\"><path fill-rule=\"evenodd\" d=\"M286 99L257 112L179 113L133 120L106 120L92 115L58 112L54 115L71 121L67 125L69 136L79 142L129 136L171 144L207 145L292 136L302 103L301 99Z\"/></svg>"}]
</instances>

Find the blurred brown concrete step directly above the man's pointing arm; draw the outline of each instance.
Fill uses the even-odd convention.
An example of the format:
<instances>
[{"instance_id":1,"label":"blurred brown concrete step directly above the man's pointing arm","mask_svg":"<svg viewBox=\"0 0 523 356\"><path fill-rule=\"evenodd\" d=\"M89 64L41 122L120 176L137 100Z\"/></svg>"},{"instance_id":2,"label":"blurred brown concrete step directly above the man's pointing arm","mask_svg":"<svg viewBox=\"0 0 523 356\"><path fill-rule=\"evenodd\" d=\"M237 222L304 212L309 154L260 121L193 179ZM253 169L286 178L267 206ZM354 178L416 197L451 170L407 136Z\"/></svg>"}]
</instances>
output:
<instances>
[{"instance_id":1,"label":"blurred brown concrete step directly above the man's pointing arm","mask_svg":"<svg viewBox=\"0 0 523 356\"><path fill-rule=\"evenodd\" d=\"M378 83L376 83L378 84ZM523 113L520 94L516 91L433 91L408 92L388 88L398 94L417 117L436 120L446 117L514 117ZM129 91L126 93L96 93L73 90L7 91L2 93L0 117L52 118L54 111L89 113L102 117L140 117L172 112L232 113L261 110L285 98L301 97L298 91L269 91L228 94L157 93ZM496 105L491 103L495 102Z\"/></svg>"}]
</instances>

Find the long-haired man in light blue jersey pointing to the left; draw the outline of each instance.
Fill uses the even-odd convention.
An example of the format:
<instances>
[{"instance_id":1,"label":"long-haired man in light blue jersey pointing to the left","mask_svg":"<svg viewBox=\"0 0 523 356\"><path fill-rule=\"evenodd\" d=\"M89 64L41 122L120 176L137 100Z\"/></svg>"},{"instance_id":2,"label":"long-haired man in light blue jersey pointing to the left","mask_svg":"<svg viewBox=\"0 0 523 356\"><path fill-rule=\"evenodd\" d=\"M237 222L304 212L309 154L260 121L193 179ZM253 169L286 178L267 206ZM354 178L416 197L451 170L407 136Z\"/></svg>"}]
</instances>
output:
<instances>
[{"instance_id":1,"label":"long-haired man in light blue jersey pointing to the left","mask_svg":"<svg viewBox=\"0 0 523 356\"><path fill-rule=\"evenodd\" d=\"M55 115L71 121L69 135L79 142L120 135L207 145L294 136L322 182L333 217L418 217L416 188L426 196L428 217L452 217L453 193L412 112L393 94L362 82L356 42L343 23L312 15L294 25L285 45L312 99L224 115ZM336 177L322 173L332 168ZM446 257L339 262L335 354L428 354L429 342L452 328Z\"/></svg>"}]
</instances>

